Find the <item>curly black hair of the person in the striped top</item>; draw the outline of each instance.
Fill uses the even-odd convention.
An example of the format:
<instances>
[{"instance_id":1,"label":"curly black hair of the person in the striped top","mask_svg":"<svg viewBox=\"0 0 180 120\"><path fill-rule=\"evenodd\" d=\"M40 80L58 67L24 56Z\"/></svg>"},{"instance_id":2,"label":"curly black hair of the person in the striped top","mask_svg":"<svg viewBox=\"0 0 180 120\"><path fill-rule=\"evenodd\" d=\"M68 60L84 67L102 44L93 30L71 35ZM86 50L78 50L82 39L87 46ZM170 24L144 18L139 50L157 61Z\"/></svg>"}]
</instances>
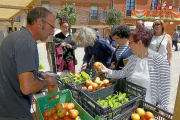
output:
<instances>
[{"instance_id":1,"label":"curly black hair of the person in the striped top","mask_svg":"<svg viewBox=\"0 0 180 120\"><path fill-rule=\"evenodd\" d=\"M131 30L127 25L120 25L112 31L112 35L117 35L120 38L128 38Z\"/></svg>"}]
</instances>

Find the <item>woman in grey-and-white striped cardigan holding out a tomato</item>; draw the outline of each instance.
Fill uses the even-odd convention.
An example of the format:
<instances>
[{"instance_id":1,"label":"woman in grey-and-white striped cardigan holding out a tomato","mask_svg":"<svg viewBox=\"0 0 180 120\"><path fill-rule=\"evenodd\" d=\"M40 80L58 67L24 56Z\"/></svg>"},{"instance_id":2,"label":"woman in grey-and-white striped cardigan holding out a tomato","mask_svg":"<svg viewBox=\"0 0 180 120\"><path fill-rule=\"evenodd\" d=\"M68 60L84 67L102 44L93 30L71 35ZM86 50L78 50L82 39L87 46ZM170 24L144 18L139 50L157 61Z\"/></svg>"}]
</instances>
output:
<instances>
[{"instance_id":1,"label":"woman in grey-and-white striped cardigan holding out a tomato","mask_svg":"<svg viewBox=\"0 0 180 120\"><path fill-rule=\"evenodd\" d=\"M126 78L146 88L145 101L167 110L170 95L170 68L167 59L148 49L152 32L146 27L130 33L129 47L132 54L122 70L107 69L104 65L97 72L107 78Z\"/></svg>"}]
</instances>

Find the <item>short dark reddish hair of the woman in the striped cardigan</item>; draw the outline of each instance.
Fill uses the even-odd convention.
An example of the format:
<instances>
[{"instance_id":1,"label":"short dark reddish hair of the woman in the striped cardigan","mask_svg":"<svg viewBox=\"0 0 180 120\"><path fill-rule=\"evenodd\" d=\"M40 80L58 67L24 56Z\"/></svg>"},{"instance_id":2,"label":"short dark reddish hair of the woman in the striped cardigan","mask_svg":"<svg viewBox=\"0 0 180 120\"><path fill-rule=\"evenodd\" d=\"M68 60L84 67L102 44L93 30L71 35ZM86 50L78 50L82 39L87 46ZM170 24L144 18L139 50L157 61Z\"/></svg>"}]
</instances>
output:
<instances>
[{"instance_id":1,"label":"short dark reddish hair of the woman in the striped cardigan","mask_svg":"<svg viewBox=\"0 0 180 120\"><path fill-rule=\"evenodd\" d=\"M130 36L133 37L135 43L141 40L145 47L149 47L153 34L148 28L142 27L140 29L135 29L130 33L129 37Z\"/></svg>"}]
</instances>

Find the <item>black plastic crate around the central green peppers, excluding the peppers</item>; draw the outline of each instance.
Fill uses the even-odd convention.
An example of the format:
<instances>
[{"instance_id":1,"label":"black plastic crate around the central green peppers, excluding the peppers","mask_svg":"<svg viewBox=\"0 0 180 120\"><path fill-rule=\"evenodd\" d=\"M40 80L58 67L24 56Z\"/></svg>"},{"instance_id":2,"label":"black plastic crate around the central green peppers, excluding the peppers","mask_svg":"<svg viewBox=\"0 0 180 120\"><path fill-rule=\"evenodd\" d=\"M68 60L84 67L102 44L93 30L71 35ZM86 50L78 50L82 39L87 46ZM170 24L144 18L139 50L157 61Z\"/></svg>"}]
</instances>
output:
<instances>
[{"instance_id":1,"label":"black plastic crate around the central green peppers, excluding the peppers","mask_svg":"<svg viewBox=\"0 0 180 120\"><path fill-rule=\"evenodd\" d=\"M102 89L103 90L103 89ZM116 94L116 92L121 91L122 93L126 93L127 95L130 94L129 98L130 101L120 105L115 109L111 109L110 106L106 107L105 109L100 106L96 101L99 99L105 99L105 97L109 95ZM99 92L99 91L97 91ZM97 93L96 92L96 93ZM131 109L133 106L136 105L136 101L145 97L146 88L143 88L139 85L134 83L128 82L125 79L117 80L116 86L111 90L105 90L101 93L95 95L95 93L86 94L86 92L80 93L80 99L82 101L82 107L91 114L91 116L95 117L103 116L105 119L119 119L120 116Z\"/></svg>"}]
</instances>

